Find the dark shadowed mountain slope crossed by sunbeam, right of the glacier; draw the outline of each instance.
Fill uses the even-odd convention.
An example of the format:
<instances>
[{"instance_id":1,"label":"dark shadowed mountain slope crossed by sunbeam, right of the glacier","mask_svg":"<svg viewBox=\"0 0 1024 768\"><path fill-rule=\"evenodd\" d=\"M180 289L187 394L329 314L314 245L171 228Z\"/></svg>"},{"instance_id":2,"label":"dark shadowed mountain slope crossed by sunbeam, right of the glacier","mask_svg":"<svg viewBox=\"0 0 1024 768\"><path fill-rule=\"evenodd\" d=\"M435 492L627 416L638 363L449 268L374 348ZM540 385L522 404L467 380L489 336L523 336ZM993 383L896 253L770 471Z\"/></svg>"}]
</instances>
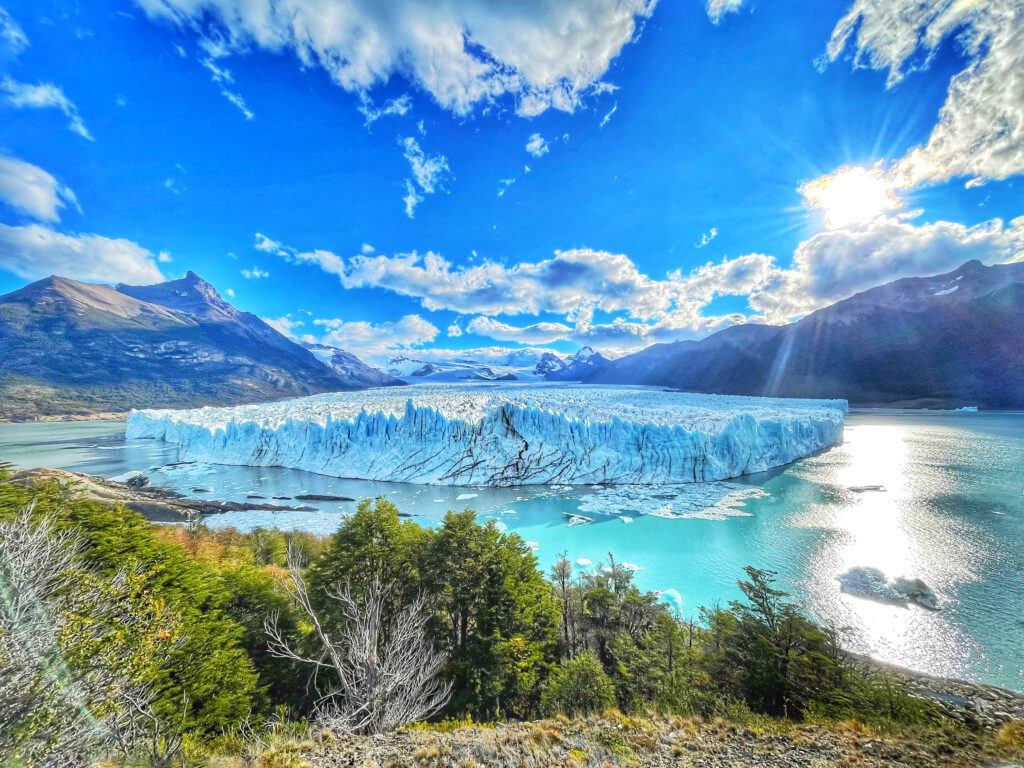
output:
<instances>
[{"instance_id":1,"label":"dark shadowed mountain slope crossed by sunbeam, right of the glacier","mask_svg":"<svg viewBox=\"0 0 1024 768\"><path fill-rule=\"evenodd\" d=\"M851 404L1024 408L1024 263L969 261L864 291L787 326L655 344L587 383L845 397Z\"/></svg>"}]
</instances>

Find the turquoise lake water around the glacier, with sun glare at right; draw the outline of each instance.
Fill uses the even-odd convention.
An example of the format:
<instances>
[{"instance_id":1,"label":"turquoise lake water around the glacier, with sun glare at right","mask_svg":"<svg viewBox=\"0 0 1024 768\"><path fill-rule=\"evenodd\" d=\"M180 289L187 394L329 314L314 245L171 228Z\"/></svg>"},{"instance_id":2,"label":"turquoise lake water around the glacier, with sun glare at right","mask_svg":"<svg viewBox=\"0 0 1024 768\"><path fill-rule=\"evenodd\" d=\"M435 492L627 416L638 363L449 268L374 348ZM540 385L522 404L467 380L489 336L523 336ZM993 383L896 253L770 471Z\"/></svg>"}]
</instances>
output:
<instances>
[{"instance_id":1,"label":"turquoise lake water around the glacier, with sun glare at right","mask_svg":"<svg viewBox=\"0 0 1024 768\"><path fill-rule=\"evenodd\" d=\"M744 565L771 568L818 620L841 629L851 649L1024 690L1024 414L852 413L843 444L786 467L730 483L654 488L454 488L280 468L168 467L174 446L126 441L116 421L0 425L0 459L108 477L145 470L154 484L197 497L202 488L209 499L385 495L423 524L470 507L530 542L544 567L561 551L585 568L612 553L637 568L640 587L662 591L683 615L738 597ZM649 514L665 503L676 516ZM315 506L206 522L329 534L354 508ZM570 525L569 515L591 521ZM942 609L845 595L836 577L854 565L921 578Z\"/></svg>"}]
</instances>

